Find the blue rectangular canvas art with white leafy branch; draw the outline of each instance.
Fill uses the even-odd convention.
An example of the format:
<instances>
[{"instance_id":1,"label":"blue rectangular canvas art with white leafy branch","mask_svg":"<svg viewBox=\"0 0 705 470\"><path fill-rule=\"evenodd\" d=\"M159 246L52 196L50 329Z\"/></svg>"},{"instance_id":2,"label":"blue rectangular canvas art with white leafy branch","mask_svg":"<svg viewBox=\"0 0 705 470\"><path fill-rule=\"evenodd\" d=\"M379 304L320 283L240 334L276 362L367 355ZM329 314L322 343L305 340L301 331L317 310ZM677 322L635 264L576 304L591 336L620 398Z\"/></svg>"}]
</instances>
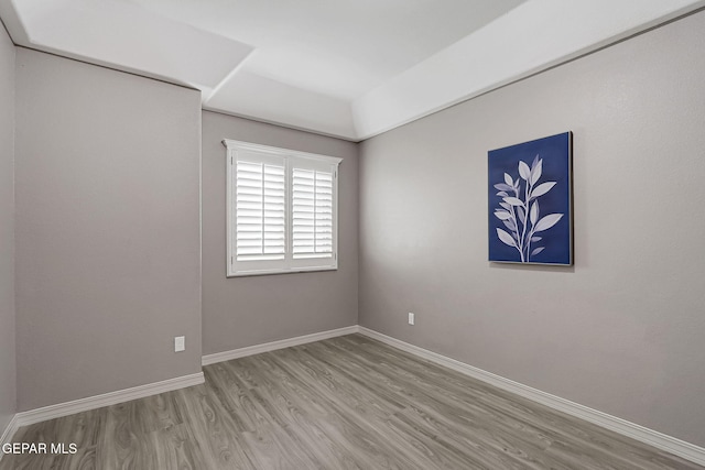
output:
<instances>
[{"instance_id":1,"label":"blue rectangular canvas art with white leafy branch","mask_svg":"<svg viewBox=\"0 0 705 470\"><path fill-rule=\"evenodd\" d=\"M573 264L572 138L488 152L489 261Z\"/></svg>"}]
</instances>

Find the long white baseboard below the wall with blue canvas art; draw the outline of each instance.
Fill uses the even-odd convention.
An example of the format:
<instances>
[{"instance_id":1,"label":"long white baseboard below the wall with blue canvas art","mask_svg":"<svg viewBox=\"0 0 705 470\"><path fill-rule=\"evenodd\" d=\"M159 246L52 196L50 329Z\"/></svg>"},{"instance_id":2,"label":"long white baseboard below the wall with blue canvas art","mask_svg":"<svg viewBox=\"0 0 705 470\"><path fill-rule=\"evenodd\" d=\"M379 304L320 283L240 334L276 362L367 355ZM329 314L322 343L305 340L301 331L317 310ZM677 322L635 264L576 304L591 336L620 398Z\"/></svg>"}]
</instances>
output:
<instances>
[{"instance_id":1,"label":"long white baseboard below the wall with blue canvas art","mask_svg":"<svg viewBox=\"0 0 705 470\"><path fill-rule=\"evenodd\" d=\"M397 349L401 349L402 351L406 351L409 353L417 356L422 359L426 359L436 364L453 369L454 371L464 373L474 379L481 380L482 382L495 385L498 389L506 390L524 398L541 403L542 405L549 406L553 409L557 409L581 419L585 419L586 422L614 430L618 434L621 434L622 436L630 437L634 440L648 444L661 450L665 450L666 452L671 452L692 462L705 466L705 448L695 446L681 439L676 439L675 437L668 436L657 430L649 429L638 424L630 423L626 419L608 415L607 413L588 408L587 406L583 406L568 400L561 398L560 396L551 395L550 393L545 393L519 382L505 379L503 376L494 374L491 372L474 368L473 365L468 365L465 362L460 362L455 359L438 354L436 352L429 351L427 349L410 345L408 342L389 337L387 335L382 335L381 332L371 330L369 328L359 327L359 332Z\"/></svg>"}]
</instances>

